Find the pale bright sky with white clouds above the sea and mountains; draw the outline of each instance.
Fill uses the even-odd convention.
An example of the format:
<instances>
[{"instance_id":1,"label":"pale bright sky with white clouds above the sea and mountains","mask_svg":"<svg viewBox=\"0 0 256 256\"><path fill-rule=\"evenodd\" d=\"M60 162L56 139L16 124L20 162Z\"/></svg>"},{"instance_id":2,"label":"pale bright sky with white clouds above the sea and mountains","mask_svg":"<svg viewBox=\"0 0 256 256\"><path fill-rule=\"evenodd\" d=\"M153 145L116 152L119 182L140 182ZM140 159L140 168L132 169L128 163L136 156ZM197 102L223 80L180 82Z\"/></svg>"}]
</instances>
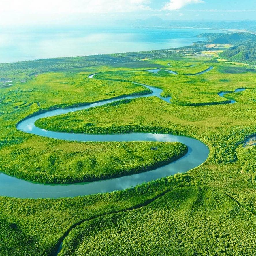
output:
<instances>
[{"instance_id":1,"label":"pale bright sky with white clouds above the sea and mountains","mask_svg":"<svg viewBox=\"0 0 256 256\"><path fill-rule=\"evenodd\" d=\"M255 20L255 0L1 0L0 26L90 24L120 19Z\"/></svg>"}]
</instances>

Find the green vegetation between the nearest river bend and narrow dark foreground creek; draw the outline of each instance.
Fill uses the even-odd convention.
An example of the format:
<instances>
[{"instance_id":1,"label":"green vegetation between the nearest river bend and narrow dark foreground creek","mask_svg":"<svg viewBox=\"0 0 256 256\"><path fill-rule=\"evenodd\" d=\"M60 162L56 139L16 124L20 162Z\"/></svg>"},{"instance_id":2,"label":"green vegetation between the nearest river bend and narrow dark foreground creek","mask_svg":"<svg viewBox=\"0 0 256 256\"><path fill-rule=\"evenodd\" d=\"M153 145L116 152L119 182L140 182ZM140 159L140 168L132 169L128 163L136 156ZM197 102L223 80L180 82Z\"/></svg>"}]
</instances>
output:
<instances>
[{"instance_id":1,"label":"green vegetation between the nearest river bend and narrow dark foreground creek","mask_svg":"<svg viewBox=\"0 0 256 256\"><path fill-rule=\"evenodd\" d=\"M189 176L176 175L125 191L75 198L1 197L0 254L56 255L59 242L72 227L97 216L147 205L189 180Z\"/></svg>"}]
</instances>

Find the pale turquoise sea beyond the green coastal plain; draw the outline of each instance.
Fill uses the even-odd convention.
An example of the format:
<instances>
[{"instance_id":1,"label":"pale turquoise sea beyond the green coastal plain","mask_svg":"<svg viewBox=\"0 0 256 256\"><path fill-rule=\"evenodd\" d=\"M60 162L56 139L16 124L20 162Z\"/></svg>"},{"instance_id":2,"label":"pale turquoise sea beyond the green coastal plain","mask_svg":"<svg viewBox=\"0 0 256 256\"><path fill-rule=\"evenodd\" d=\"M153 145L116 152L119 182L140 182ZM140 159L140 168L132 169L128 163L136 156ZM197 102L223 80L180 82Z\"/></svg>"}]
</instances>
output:
<instances>
[{"instance_id":1,"label":"pale turquoise sea beyond the green coastal plain","mask_svg":"<svg viewBox=\"0 0 256 256\"><path fill-rule=\"evenodd\" d=\"M1 29L0 63L54 57L158 50L189 46L211 29L24 28Z\"/></svg>"}]
</instances>

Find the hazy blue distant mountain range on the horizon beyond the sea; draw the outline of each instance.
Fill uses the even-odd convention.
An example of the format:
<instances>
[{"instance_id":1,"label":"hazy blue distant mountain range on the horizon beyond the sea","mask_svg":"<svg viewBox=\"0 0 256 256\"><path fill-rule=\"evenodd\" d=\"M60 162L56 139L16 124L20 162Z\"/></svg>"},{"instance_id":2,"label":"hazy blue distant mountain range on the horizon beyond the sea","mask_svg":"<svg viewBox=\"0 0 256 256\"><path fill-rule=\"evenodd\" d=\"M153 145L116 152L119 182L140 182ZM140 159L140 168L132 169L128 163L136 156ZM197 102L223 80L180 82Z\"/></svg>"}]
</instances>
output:
<instances>
[{"instance_id":1,"label":"hazy blue distant mountain range on the horizon beyond the sea","mask_svg":"<svg viewBox=\"0 0 256 256\"><path fill-rule=\"evenodd\" d=\"M146 20L120 20L119 25L132 27L187 27L223 30L246 30L256 32L256 21L175 21L151 17Z\"/></svg>"}]
</instances>

